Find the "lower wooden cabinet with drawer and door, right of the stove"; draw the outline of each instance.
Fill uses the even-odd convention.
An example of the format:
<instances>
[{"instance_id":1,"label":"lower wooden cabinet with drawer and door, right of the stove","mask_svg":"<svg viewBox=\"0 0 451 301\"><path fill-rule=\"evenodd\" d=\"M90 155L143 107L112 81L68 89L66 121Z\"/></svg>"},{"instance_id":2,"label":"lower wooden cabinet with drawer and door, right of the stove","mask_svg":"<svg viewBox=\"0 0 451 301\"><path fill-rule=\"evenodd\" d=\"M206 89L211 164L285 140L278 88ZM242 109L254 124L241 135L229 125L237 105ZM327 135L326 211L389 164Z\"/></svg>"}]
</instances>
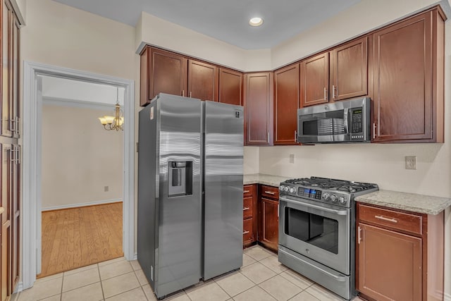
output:
<instances>
[{"instance_id":1,"label":"lower wooden cabinet with drawer and door, right of the stove","mask_svg":"<svg viewBox=\"0 0 451 301\"><path fill-rule=\"evenodd\" d=\"M357 204L356 289L375 300L443 300L443 212Z\"/></svg>"}]
</instances>

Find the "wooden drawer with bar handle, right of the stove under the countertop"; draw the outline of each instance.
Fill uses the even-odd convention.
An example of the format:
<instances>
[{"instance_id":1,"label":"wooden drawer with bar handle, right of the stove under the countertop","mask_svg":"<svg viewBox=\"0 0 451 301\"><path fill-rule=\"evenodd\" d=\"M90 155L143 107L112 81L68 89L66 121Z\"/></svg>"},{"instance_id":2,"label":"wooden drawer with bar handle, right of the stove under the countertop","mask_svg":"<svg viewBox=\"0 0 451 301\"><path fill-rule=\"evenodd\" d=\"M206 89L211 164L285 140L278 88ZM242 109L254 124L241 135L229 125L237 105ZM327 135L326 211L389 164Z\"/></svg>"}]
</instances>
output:
<instances>
[{"instance_id":1,"label":"wooden drawer with bar handle, right of the stove under the countertop","mask_svg":"<svg viewBox=\"0 0 451 301\"><path fill-rule=\"evenodd\" d=\"M359 221L368 221L401 231L422 234L423 218L414 214L359 204Z\"/></svg>"}]
</instances>

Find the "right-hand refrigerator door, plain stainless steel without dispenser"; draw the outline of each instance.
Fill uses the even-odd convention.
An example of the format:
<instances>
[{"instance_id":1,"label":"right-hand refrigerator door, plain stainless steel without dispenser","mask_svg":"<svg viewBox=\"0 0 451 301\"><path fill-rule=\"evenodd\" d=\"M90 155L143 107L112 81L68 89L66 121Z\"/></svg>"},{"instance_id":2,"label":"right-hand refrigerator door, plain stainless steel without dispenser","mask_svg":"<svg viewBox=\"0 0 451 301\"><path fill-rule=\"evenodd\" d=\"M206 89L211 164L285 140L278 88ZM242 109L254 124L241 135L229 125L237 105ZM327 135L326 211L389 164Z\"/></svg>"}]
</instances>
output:
<instances>
[{"instance_id":1,"label":"right-hand refrigerator door, plain stainless steel without dispenser","mask_svg":"<svg viewBox=\"0 0 451 301\"><path fill-rule=\"evenodd\" d=\"M242 106L204 102L204 279L242 266Z\"/></svg>"}]
</instances>

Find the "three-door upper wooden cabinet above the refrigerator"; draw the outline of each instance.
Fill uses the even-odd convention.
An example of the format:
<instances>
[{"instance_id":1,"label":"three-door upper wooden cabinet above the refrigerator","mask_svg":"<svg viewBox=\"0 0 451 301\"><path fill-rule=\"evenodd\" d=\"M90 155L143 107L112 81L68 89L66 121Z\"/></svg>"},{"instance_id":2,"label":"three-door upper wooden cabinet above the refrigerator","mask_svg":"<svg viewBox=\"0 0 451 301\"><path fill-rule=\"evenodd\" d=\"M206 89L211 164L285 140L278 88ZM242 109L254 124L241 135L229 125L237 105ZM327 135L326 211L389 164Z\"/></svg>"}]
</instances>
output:
<instances>
[{"instance_id":1,"label":"three-door upper wooden cabinet above the refrigerator","mask_svg":"<svg viewBox=\"0 0 451 301\"><path fill-rule=\"evenodd\" d=\"M159 93L242 105L242 73L153 47L141 52L140 106Z\"/></svg>"}]
</instances>

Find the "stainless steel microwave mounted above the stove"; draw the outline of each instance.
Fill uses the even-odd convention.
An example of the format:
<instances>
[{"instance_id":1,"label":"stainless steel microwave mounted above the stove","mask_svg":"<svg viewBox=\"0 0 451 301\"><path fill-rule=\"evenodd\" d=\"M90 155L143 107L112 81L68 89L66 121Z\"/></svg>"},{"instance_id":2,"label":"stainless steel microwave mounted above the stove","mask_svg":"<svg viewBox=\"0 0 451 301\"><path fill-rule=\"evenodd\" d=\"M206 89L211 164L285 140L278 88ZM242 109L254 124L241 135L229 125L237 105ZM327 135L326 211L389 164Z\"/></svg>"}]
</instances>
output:
<instances>
[{"instance_id":1,"label":"stainless steel microwave mounted above the stove","mask_svg":"<svg viewBox=\"0 0 451 301\"><path fill-rule=\"evenodd\" d=\"M297 142L370 142L369 97L297 109Z\"/></svg>"}]
</instances>

